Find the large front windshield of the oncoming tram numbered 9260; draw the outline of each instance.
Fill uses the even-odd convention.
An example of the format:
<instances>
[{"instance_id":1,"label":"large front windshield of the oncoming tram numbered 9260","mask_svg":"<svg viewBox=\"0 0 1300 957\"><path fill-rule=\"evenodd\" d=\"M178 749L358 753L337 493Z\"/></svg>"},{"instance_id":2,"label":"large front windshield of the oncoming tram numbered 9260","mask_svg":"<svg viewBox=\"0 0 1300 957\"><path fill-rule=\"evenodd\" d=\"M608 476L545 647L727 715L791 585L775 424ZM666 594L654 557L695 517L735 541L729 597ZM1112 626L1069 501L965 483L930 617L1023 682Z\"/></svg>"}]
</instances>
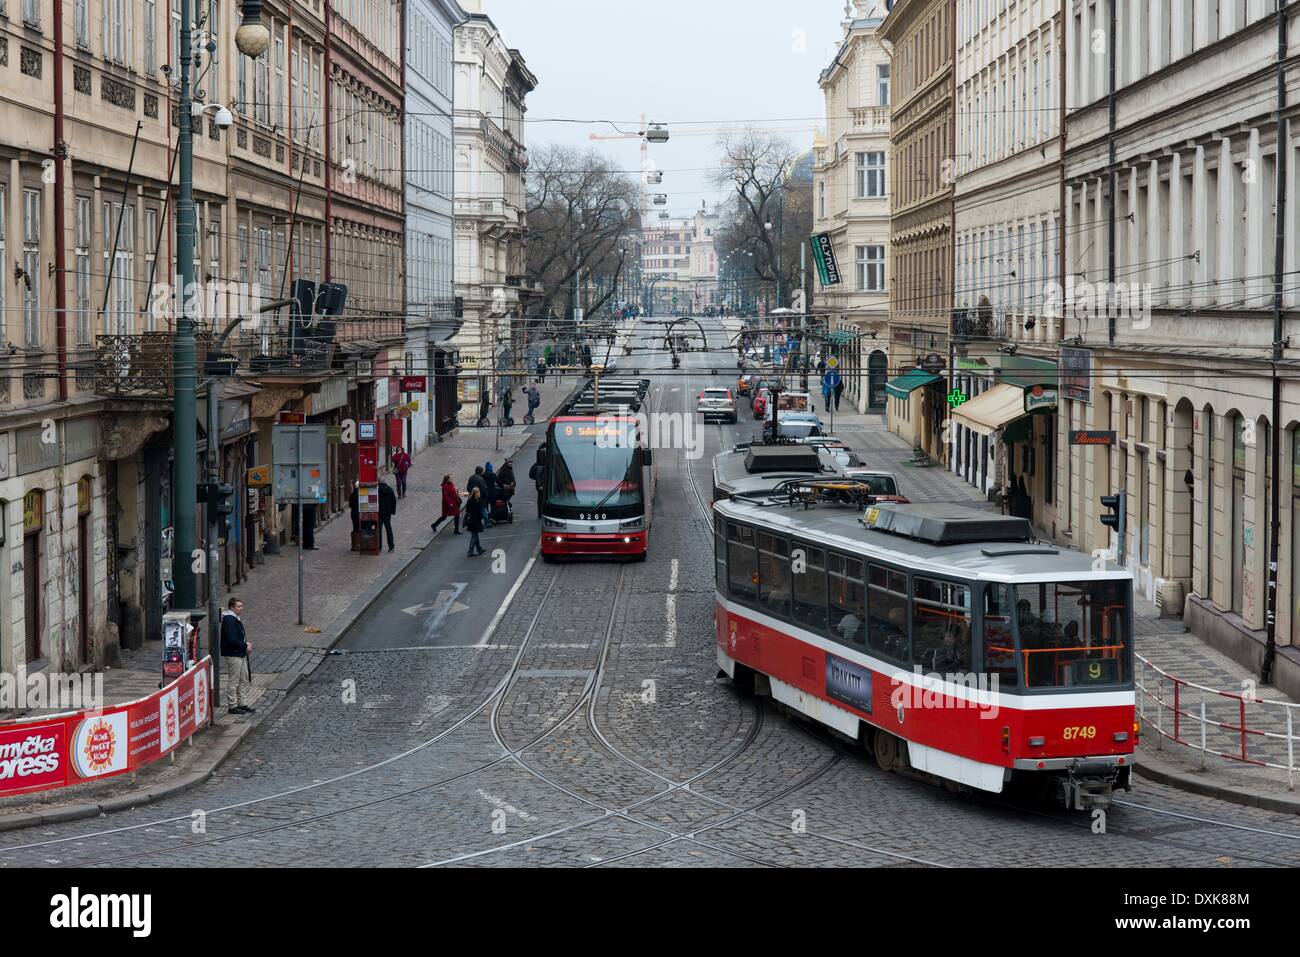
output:
<instances>
[{"instance_id":1,"label":"large front windshield of the oncoming tram numbered 9260","mask_svg":"<svg viewBox=\"0 0 1300 957\"><path fill-rule=\"evenodd\" d=\"M642 501L634 421L555 423L547 458L549 505L625 508Z\"/></svg>"}]
</instances>

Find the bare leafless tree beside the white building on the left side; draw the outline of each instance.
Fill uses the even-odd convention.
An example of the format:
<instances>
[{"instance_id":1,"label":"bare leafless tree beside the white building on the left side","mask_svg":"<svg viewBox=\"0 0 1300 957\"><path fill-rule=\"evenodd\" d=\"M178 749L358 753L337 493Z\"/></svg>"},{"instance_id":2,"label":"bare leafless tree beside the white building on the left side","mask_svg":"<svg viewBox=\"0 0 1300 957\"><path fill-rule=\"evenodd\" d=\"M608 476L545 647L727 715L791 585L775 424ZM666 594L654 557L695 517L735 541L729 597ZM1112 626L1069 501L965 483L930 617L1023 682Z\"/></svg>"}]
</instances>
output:
<instances>
[{"instance_id":1,"label":"bare leafless tree beside the white building on the left side","mask_svg":"<svg viewBox=\"0 0 1300 957\"><path fill-rule=\"evenodd\" d=\"M598 291L588 312L612 298L629 255L623 238L640 226L633 178L595 151L546 146L534 150L528 172L528 273L542 283L538 312L563 313L580 278ZM577 290L581 295L581 290Z\"/></svg>"}]
</instances>

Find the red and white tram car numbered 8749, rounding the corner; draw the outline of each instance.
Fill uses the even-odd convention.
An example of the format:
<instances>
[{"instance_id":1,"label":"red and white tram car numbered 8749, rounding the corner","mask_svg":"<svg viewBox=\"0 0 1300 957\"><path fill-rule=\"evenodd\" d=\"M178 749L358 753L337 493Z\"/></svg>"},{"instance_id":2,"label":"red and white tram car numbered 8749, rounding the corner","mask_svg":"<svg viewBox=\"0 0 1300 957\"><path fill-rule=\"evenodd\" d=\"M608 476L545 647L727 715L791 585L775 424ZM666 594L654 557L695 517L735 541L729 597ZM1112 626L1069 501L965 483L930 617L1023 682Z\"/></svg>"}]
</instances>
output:
<instances>
[{"instance_id":1,"label":"red and white tram car numbered 8749, rounding the corner","mask_svg":"<svg viewBox=\"0 0 1300 957\"><path fill-rule=\"evenodd\" d=\"M714 503L718 664L881 767L1067 807L1128 788L1132 575L959 506ZM842 502L842 495L838 495Z\"/></svg>"}]
</instances>

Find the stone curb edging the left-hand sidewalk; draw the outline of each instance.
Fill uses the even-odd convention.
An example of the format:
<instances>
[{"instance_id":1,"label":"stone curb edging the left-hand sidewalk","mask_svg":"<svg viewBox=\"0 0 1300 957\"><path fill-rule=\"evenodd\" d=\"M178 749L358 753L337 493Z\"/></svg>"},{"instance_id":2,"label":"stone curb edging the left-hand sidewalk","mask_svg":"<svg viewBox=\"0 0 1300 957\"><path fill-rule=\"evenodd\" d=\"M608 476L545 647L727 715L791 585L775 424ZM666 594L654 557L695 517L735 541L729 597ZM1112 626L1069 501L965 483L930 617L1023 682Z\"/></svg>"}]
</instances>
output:
<instances>
[{"instance_id":1,"label":"stone curb edging the left-hand sidewalk","mask_svg":"<svg viewBox=\"0 0 1300 957\"><path fill-rule=\"evenodd\" d=\"M524 433L519 436L520 442L514 449L507 451L502 449L503 455L517 455L520 449L528 445L529 441L536 438L534 434ZM419 547L412 547L410 553L394 562L387 571L384 572L376 581L363 592L351 605L341 614L334 623L325 629L325 637L328 644L321 646L322 651L330 651L342 640L343 636L352 628L354 624L364 615L374 602L380 599L380 596L387 590L406 570L415 562L416 558L424 554L425 547L433 544L447 528L448 524L443 524L433 537L425 545ZM268 685L266 690L282 692L276 701L273 707L269 707L263 713L261 718L256 724L254 723L239 723L231 724L221 729L216 735L216 741L212 746L212 754L205 759L203 767L195 768L194 771L181 775L168 784L160 784L151 788L139 788L136 791L130 791L125 794L116 794L113 797L105 797L103 801L94 804L74 804L51 807L48 811L22 811L16 814L0 814L0 833L5 831L20 831L29 827L39 827L42 824L55 824L66 823L69 820L83 820L87 818L98 818L105 814L113 814L116 811L131 810L134 807L143 807L148 804L156 804L164 801L169 797L185 793L196 788L199 784L207 781L216 772L225 761L234 754L235 749L243 744L244 739L252 733L255 728L261 727L280 705L289 697L289 692L298 687L308 675L313 674L316 668L321 666L329 655L321 657L308 672L283 672L277 676L277 679ZM209 732L216 731L216 728L209 727ZM1297 811L1300 813L1300 811Z\"/></svg>"}]
</instances>

